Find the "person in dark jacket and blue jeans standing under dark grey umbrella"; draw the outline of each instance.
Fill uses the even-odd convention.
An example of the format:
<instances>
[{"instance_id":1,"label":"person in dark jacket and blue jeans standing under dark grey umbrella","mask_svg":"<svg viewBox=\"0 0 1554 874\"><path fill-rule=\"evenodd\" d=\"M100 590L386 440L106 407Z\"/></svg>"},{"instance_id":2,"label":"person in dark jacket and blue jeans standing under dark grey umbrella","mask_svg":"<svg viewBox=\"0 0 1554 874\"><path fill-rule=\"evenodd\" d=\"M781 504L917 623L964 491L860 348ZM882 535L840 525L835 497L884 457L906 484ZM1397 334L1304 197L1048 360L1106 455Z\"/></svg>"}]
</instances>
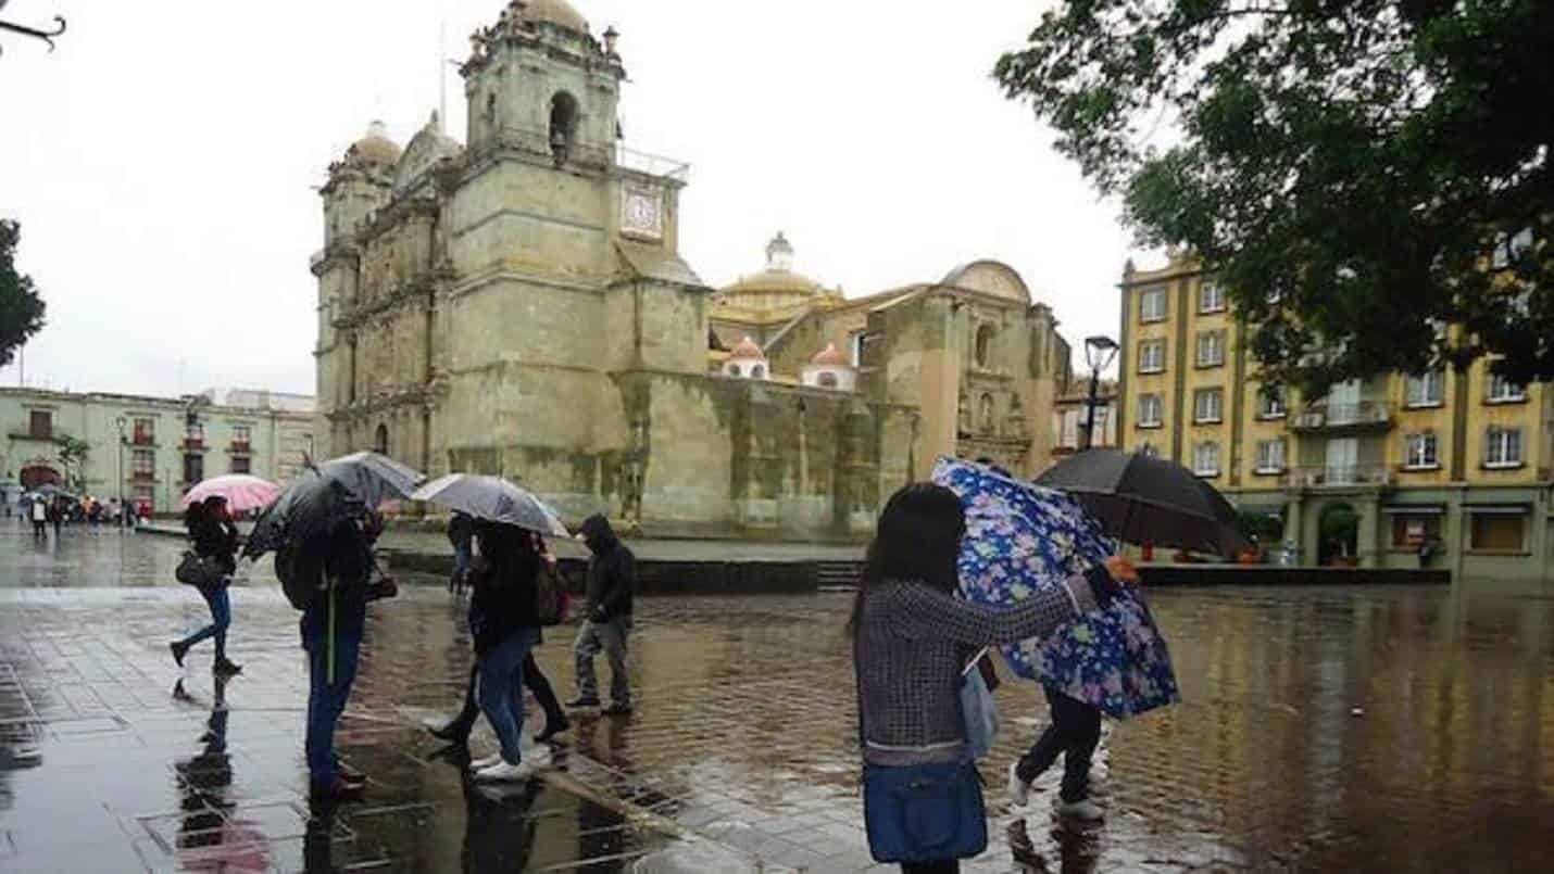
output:
<instances>
[{"instance_id":1,"label":"person in dark jacket and blue jeans standing under dark grey umbrella","mask_svg":"<svg viewBox=\"0 0 1554 874\"><path fill-rule=\"evenodd\" d=\"M323 556L325 585L301 613L301 647L308 654L308 784L315 799L362 796L365 778L340 767L334 727L356 682L367 627L371 545L382 529L376 514L343 519L306 545Z\"/></svg>"}]
</instances>

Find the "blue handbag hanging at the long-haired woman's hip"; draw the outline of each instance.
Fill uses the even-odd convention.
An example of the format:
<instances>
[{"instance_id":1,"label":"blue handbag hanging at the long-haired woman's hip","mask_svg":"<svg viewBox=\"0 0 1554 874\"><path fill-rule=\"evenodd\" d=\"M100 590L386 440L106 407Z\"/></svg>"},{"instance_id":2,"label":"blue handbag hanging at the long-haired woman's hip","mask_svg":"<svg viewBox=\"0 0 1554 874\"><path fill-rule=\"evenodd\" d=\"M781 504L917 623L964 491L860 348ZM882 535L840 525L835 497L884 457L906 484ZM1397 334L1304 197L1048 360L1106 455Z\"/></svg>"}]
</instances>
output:
<instances>
[{"instance_id":1,"label":"blue handbag hanging at the long-haired woman's hip","mask_svg":"<svg viewBox=\"0 0 1554 874\"><path fill-rule=\"evenodd\" d=\"M987 849L982 778L971 762L864 764L864 826L875 862L977 855Z\"/></svg>"}]
</instances>

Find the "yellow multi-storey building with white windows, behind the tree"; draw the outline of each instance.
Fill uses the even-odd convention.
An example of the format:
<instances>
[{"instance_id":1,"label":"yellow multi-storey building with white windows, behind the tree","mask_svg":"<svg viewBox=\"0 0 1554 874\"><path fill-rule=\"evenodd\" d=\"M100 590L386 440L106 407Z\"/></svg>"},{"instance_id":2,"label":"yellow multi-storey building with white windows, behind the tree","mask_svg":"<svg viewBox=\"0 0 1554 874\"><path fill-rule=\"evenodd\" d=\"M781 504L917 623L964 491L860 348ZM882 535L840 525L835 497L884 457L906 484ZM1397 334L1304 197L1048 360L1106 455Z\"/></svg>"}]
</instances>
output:
<instances>
[{"instance_id":1,"label":"yellow multi-storey building with white windows, behind the tree","mask_svg":"<svg viewBox=\"0 0 1554 874\"><path fill-rule=\"evenodd\" d=\"M1122 276L1117 436L1265 512L1302 564L1554 584L1554 393L1489 373L1385 374L1302 402L1256 377L1248 326L1190 258Z\"/></svg>"}]
</instances>

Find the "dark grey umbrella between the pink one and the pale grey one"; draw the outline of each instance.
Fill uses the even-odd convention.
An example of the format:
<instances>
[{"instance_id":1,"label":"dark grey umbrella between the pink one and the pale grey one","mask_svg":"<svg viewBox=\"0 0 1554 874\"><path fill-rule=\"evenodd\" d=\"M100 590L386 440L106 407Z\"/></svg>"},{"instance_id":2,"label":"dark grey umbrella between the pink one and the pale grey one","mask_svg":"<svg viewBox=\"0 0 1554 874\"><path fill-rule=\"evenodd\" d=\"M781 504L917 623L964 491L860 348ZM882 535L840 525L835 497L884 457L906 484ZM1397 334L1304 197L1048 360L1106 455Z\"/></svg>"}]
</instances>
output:
<instances>
[{"instance_id":1,"label":"dark grey umbrella between the pink one and the pale grey one","mask_svg":"<svg viewBox=\"0 0 1554 874\"><path fill-rule=\"evenodd\" d=\"M244 554L258 557L284 543L303 543L343 519L407 498L424 480L376 452L357 452L303 470L253 523Z\"/></svg>"}]
</instances>

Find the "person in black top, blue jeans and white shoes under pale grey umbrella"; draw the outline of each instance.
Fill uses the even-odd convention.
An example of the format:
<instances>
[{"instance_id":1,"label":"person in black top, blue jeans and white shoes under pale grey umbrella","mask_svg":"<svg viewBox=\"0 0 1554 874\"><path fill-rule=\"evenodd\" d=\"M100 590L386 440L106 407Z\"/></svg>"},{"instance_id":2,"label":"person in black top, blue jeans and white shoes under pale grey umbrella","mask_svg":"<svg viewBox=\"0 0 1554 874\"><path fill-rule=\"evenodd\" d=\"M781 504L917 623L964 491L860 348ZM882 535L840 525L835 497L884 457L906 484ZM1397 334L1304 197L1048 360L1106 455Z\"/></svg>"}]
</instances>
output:
<instances>
[{"instance_id":1,"label":"person in black top, blue jeans and white shoes under pale grey umbrella","mask_svg":"<svg viewBox=\"0 0 1554 874\"><path fill-rule=\"evenodd\" d=\"M525 759L522 753L524 663L539 640L535 581L541 559L533 537L521 528L482 523L476 537L486 570L476 577L469 630L479 658L480 711L502 748L469 767L480 781L522 781L550 764L549 756Z\"/></svg>"}]
</instances>

